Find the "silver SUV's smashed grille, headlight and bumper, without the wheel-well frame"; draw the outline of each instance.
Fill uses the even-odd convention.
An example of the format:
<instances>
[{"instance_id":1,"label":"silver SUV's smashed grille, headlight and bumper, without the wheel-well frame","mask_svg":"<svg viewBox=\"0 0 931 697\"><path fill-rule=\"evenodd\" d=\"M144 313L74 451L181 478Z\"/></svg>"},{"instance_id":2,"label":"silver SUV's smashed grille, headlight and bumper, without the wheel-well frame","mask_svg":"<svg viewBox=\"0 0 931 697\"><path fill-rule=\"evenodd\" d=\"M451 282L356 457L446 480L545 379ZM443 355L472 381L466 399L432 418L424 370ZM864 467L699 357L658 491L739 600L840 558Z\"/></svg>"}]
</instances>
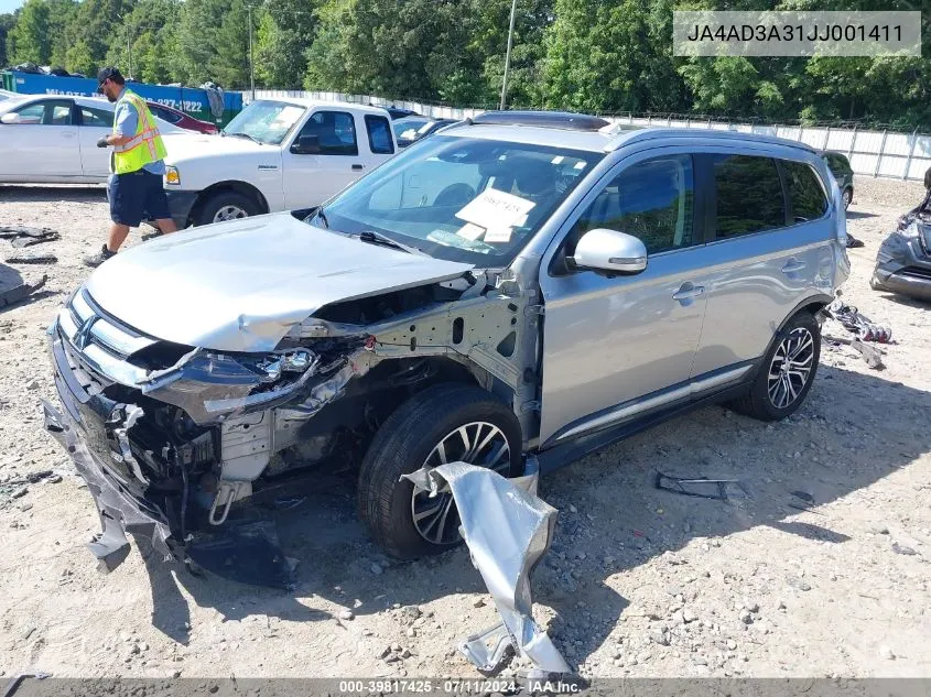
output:
<instances>
[{"instance_id":1,"label":"silver SUV's smashed grille, headlight and bumper, without the wheel-well frame","mask_svg":"<svg viewBox=\"0 0 931 697\"><path fill-rule=\"evenodd\" d=\"M261 356L170 345L120 324L86 291L50 338L64 411L45 403L46 427L94 495L102 532L90 549L108 570L126 558L125 532L190 560L190 543L221 526L273 460L283 470L296 457L300 429L275 407L293 403L310 418L372 362L365 336ZM269 573L275 585L285 576Z\"/></svg>"}]
</instances>

